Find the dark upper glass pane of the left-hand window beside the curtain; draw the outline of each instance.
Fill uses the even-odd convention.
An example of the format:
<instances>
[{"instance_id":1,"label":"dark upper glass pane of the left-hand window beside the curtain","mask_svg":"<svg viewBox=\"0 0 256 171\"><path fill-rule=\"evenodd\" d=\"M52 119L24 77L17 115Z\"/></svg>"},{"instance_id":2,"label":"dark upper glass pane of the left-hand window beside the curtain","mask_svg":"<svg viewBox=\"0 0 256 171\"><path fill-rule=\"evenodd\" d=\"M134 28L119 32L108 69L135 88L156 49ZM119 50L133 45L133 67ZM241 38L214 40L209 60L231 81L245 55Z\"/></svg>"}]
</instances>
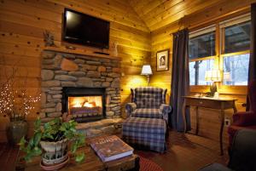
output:
<instances>
[{"instance_id":1,"label":"dark upper glass pane of the left-hand window beside the curtain","mask_svg":"<svg viewBox=\"0 0 256 171\"><path fill-rule=\"evenodd\" d=\"M189 59L215 55L215 31L189 38Z\"/></svg>"}]
</instances>

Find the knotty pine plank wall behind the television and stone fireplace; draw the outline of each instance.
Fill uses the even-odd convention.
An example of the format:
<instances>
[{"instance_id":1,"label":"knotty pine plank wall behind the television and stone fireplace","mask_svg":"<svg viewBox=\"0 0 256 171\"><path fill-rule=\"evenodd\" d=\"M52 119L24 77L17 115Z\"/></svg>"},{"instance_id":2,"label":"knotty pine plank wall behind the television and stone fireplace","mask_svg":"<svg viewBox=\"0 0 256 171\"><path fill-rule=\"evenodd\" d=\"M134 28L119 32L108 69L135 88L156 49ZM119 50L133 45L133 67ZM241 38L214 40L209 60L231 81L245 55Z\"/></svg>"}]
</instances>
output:
<instances>
[{"instance_id":1,"label":"knotty pine plank wall behind the television and stone fireplace","mask_svg":"<svg viewBox=\"0 0 256 171\"><path fill-rule=\"evenodd\" d=\"M61 42L61 22L64 8L73 9L110 21L109 50L103 52L113 55L113 43L118 44L118 57L121 61L121 104L130 100L130 88L146 85L146 78L140 71L150 60L150 32L143 20L137 16L128 3L122 0L2 0L0 2L0 65L1 81L4 74L15 64L18 66L17 88L27 77L29 94L40 91L41 53L44 50L43 32L48 30L55 37L55 44L65 49ZM85 46L76 47L74 52L102 51ZM58 49L58 48L57 48ZM38 117L38 104L32 115L28 116L30 133L32 121ZM124 111L124 110L123 110ZM0 141L5 141L7 117L0 118Z\"/></svg>"}]
</instances>

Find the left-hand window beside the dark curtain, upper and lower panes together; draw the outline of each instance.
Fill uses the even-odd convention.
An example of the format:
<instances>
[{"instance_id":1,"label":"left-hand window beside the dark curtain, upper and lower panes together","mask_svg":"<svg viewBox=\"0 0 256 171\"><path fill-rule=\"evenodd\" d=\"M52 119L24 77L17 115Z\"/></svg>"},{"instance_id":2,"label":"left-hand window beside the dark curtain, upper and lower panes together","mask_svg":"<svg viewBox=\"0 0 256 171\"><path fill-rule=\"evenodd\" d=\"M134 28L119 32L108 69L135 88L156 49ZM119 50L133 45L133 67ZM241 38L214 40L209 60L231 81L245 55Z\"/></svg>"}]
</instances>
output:
<instances>
[{"instance_id":1,"label":"left-hand window beside the dark curtain, upper and lower panes together","mask_svg":"<svg viewBox=\"0 0 256 171\"><path fill-rule=\"evenodd\" d=\"M189 84L207 85L206 71L213 69L215 55L213 26L189 34Z\"/></svg>"}]
</instances>

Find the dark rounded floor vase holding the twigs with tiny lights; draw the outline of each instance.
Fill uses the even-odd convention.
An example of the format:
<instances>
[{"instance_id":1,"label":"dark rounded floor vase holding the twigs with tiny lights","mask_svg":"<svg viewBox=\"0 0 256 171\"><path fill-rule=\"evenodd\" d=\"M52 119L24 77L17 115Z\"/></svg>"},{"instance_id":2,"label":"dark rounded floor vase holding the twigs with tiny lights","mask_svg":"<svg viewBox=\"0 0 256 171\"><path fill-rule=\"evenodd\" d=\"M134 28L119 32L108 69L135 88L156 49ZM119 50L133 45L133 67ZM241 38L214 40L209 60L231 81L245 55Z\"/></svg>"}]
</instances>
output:
<instances>
[{"instance_id":1,"label":"dark rounded floor vase holding the twigs with tiny lights","mask_svg":"<svg viewBox=\"0 0 256 171\"><path fill-rule=\"evenodd\" d=\"M17 145L27 134L28 126L25 120L11 121L6 127L6 136L10 145Z\"/></svg>"}]
</instances>

